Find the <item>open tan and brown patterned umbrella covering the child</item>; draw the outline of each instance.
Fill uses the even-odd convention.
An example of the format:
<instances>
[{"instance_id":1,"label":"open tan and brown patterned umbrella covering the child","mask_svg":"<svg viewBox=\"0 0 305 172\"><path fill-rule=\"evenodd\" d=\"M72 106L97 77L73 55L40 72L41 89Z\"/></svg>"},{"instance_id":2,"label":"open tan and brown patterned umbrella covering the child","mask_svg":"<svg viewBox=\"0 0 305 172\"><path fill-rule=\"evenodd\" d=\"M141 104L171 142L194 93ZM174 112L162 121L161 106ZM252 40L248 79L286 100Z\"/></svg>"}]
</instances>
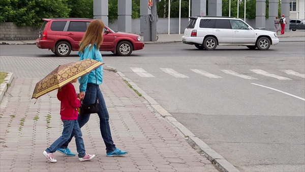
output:
<instances>
[{"instance_id":1,"label":"open tan and brown patterned umbrella covering the child","mask_svg":"<svg viewBox=\"0 0 305 172\"><path fill-rule=\"evenodd\" d=\"M32 99L39 98L55 89L63 87L75 78L89 73L104 63L94 59L85 59L64 65L59 65L45 78L36 83Z\"/></svg>"}]
</instances>

